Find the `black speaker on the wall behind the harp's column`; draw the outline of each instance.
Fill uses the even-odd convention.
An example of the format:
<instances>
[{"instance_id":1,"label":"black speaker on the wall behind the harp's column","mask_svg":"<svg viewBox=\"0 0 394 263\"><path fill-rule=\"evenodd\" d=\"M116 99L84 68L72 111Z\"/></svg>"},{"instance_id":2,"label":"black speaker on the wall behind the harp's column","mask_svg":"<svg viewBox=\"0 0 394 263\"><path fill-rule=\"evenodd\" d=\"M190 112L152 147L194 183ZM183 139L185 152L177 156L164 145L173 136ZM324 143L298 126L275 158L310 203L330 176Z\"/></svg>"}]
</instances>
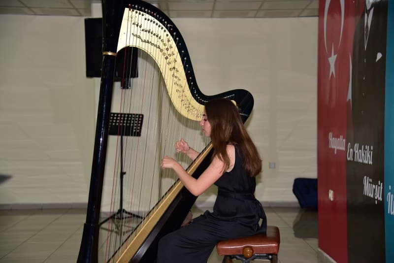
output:
<instances>
[{"instance_id":1,"label":"black speaker on the wall behind the harp's column","mask_svg":"<svg viewBox=\"0 0 394 263\"><path fill-rule=\"evenodd\" d=\"M101 77L102 18L85 19L85 54L86 76ZM116 56L114 81L121 82L123 88L130 88L130 78L138 77L137 60L137 48L126 47L119 50Z\"/></svg>"}]
</instances>

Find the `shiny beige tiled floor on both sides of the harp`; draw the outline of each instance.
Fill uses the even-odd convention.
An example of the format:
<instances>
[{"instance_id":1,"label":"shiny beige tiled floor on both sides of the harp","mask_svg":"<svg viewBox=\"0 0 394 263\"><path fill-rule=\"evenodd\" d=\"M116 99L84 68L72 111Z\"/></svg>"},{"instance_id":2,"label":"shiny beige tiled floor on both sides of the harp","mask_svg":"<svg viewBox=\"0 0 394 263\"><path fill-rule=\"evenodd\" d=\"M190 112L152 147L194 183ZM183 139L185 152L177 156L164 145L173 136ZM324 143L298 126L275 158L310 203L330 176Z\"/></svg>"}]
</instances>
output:
<instances>
[{"instance_id":1,"label":"shiny beige tiled floor on both sides of the harp","mask_svg":"<svg viewBox=\"0 0 394 263\"><path fill-rule=\"evenodd\" d=\"M317 212L296 207L264 208L278 226L280 263L317 263ZM0 263L76 262L85 209L0 210ZM194 208L196 216L202 211ZM221 263L213 251L208 263ZM236 261L234 261L236 262Z\"/></svg>"}]
</instances>

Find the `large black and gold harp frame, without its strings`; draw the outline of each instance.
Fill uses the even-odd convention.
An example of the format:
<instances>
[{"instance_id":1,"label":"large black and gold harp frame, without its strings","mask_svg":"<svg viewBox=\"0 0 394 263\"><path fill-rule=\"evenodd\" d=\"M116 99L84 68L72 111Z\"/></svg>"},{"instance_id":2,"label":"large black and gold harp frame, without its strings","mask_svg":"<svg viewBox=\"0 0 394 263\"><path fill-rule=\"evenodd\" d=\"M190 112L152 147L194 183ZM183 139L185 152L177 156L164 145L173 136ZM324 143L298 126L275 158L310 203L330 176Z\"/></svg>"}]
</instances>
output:
<instances>
[{"instance_id":1,"label":"large black and gold harp frame, without its strings","mask_svg":"<svg viewBox=\"0 0 394 263\"><path fill-rule=\"evenodd\" d=\"M214 96L200 92L185 41L174 23L157 7L140 0L102 1L103 46L99 107L95 133L92 174L86 222L78 262L98 262L100 208L104 168L110 127L116 55L127 46L138 48L153 58L160 69L174 111L184 118L199 121L206 101L215 98L233 100L245 122L253 108L253 97L236 89ZM207 145L188 167L198 177L210 163L211 145ZM157 244L166 233L176 230L194 204L193 196L175 181L159 198L154 209L125 236L119 247L108 253L104 262L156 261Z\"/></svg>"}]
</instances>

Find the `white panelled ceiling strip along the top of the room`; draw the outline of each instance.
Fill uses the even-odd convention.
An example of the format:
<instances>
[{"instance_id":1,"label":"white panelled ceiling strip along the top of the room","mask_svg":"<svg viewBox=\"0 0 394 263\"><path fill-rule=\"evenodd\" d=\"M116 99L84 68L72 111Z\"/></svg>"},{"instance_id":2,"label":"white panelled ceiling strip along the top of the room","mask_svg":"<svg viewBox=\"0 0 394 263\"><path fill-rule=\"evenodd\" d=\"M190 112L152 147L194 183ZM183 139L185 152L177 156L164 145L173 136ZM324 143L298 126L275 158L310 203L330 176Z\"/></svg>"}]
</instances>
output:
<instances>
[{"instance_id":1,"label":"white panelled ceiling strip along the top of the room","mask_svg":"<svg viewBox=\"0 0 394 263\"><path fill-rule=\"evenodd\" d=\"M0 0L0 14L91 16L98 0ZM318 16L319 0L147 0L169 17Z\"/></svg>"}]
</instances>

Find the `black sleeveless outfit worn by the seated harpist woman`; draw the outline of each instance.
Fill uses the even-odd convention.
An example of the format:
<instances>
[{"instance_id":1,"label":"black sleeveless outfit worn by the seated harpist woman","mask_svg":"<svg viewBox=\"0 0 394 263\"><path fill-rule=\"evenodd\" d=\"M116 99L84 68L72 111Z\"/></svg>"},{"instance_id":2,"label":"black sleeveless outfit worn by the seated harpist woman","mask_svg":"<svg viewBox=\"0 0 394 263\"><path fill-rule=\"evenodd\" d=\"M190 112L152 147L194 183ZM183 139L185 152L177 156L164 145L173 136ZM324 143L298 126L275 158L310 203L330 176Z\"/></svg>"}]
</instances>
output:
<instances>
[{"instance_id":1,"label":"black sleeveless outfit worn by the seated harpist woman","mask_svg":"<svg viewBox=\"0 0 394 263\"><path fill-rule=\"evenodd\" d=\"M246 174L242 161L235 146L234 167L215 182L213 212L205 211L189 226L165 235L159 242L158 263L206 263L219 241L266 231L263 207L254 197L256 178Z\"/></svg>"}]
</instances>

